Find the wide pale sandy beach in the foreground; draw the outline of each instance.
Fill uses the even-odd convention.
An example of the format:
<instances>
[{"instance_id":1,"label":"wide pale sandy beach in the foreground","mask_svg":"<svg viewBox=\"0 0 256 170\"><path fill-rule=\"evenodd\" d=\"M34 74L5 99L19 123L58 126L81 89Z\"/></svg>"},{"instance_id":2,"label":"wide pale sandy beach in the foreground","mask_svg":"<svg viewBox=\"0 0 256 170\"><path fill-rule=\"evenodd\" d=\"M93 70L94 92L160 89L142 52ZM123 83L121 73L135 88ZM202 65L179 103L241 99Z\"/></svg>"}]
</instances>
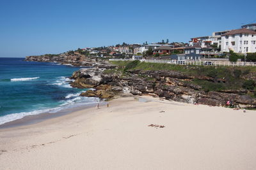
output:
<instances>
[{"instance_id":1,"label":"wide pale sandy beach in the foreground","mask_svg":"<svg viewBox=\"0 0 256 170\"><path fill-rule=\"evenodd\" d=\"M256 111L123 97L0 129L0 169L255 169L255 129Z\"/></svg>"}]
</instances>

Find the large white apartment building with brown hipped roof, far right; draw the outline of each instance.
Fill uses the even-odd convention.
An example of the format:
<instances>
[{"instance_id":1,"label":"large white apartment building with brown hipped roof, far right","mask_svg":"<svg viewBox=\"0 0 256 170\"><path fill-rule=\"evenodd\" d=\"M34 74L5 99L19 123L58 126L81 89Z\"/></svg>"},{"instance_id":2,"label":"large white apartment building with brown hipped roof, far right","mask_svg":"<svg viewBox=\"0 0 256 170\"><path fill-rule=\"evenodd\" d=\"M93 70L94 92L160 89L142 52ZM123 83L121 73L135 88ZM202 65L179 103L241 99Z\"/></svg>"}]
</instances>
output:
<instances>
[{"instance_id":1,"label":"large white apartment building with brown hipped roof, far right","mask_svg":"<svg viewBox=\"0 0 256 170\"><path fill-rule=\"evenodd\" d=\"M234 29L221 36L221 52L256 52L256 32L250 29Z\"/></svg>"}]
</instances>

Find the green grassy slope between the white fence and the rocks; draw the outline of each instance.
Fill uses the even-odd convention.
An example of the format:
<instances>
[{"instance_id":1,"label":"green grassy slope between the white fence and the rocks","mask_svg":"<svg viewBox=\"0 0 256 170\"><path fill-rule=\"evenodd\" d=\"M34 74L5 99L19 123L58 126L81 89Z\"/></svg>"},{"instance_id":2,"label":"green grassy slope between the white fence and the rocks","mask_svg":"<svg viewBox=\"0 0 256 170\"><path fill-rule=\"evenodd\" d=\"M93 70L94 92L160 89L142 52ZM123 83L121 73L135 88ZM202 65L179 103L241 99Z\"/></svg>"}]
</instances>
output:
<instances>
[{"instance_id":1,"label":"green grassy slope between the white fence and the rocks","mask_svg":"<svg viewBox=\"0 0 256 170\"><path fill-rule=\"evenodd\" d=\"M253 73L256 75L256 67L224 67L224 66L182 66L172 64L156 64L135 61L113 61L118 65L115 71L125 73L128 69L141 70L172 70L180 71L190 76L208 76L214 81L194 79L190 83L201 85L205 91L220 91L225 89L250 89L256 90L255 82L244 80L243 76ZM250 81L250 82L249 82ZM246 83L245 83L246 82ZM256 94L252 94L255 96Z\"/></svg>"}]
</instances>

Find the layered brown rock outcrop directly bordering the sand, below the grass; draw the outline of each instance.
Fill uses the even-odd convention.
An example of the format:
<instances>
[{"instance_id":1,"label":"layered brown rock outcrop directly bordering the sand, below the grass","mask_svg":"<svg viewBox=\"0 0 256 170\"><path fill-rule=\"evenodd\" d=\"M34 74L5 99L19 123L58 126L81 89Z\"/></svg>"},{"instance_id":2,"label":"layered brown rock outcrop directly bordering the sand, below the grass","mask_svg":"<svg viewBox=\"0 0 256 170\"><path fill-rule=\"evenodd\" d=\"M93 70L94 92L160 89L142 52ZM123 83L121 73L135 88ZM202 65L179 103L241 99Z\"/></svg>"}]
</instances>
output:
<instances>
[{"instance_id":1,"label":"layered brown rock outcrop directly bordering the sand, below the grass","mask_svg":"<svg viewBox=\"0 0 256 170\"><path fill-rule=\"evenodd\" d=\"M127 71L126 74L107 74L102 69L80 69L72 78L72 87L96 90L87 91L82 96L97 96L100 98L113 97L115 92L134 95L148 94L165 99L185 103L199 103L211 106L220 106L232 101L239 107L256 107L256 99L241 95L246 90L223 90L223 92L204 92L202 87L190 83L194 78L177 71ZM207 79L207 77L206 77ZM209 78L208 78L209 79ZM207 80L208 80L207 79ZM203 78L202 78L203 80ZM211 80L209 80L211 81ZM108 88L107 88L108 87ZM107 92L107 95L103 95ZM109 94L113 92L113 94ZM104 97L102 97L104 96Z\"/></svg>"}]
</instances>

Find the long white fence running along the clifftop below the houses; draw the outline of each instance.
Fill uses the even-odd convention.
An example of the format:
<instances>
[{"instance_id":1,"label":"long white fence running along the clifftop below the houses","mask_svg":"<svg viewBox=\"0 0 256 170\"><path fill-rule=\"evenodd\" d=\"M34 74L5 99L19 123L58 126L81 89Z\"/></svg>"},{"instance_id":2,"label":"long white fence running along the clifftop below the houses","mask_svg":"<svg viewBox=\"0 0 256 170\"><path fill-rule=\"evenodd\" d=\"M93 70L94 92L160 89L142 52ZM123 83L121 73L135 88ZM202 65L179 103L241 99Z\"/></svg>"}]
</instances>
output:
<instances>
[{"instance_id":1,"label":"long white fence running along the clifftop below the houses","mask_svg":"<svg viewBox=\"0 0 256 170\"><path fill-rule=\"evenodd\" d=\"M132 59L109 59L109 60L132 60ZM256 62L227 62L227 61L196 61L196 60L140 60L141 62L177 64L177 65L196 65L196 66L256 66Z\"/></svg>"}]
</instances>

